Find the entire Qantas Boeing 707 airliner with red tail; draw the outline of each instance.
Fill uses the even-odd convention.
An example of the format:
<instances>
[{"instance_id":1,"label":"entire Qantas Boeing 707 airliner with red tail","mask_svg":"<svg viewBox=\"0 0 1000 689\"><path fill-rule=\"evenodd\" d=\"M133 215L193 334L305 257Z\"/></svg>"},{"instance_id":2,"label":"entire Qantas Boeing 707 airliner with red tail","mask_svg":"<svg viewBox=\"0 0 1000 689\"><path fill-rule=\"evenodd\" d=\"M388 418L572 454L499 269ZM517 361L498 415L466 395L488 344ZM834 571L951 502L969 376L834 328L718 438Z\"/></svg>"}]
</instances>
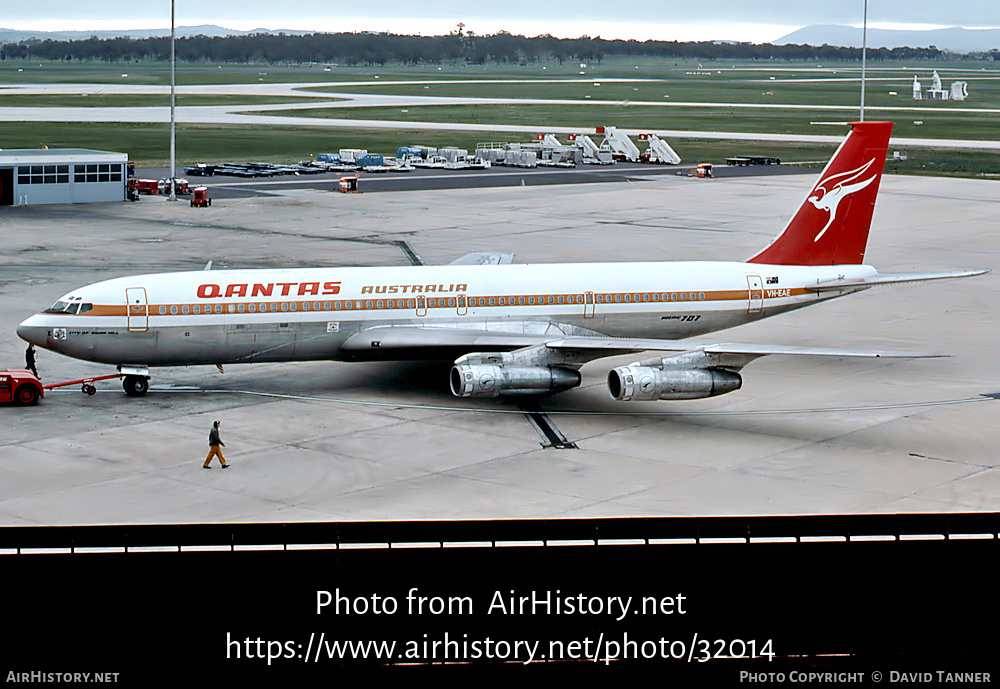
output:
<instances>
[{"instance_id":1,"label":"entire Qantas Boeing 707 airliner with red tail","mask_svg":"<svg viewBox=\"0 0 1000 689\"><path fill-rule=\"evenodd\" d=\"M788 226L746 262L518 265L485 253L446 266L136 275L73 290L17 333L118 366L130 395L155 366L374 359L454 360L458 397L546 394L579 385L593 359L655 351L610 371L611 396L695 399L739 389L741 369L769 354L927 356L687 339L875 285L986 272L864 265L892 123L851 126Z\"/></svg>"}]
</instances>

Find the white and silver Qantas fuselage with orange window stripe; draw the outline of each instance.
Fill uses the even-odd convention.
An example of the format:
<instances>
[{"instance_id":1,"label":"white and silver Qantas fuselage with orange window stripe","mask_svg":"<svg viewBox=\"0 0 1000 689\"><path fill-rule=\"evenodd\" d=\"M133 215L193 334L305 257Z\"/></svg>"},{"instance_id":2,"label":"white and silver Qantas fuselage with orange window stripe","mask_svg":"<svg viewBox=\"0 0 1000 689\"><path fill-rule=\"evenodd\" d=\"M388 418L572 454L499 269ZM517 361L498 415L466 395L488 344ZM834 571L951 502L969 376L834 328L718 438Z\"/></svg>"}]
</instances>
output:
<instances>
[{"instance_id":1,"label":"white and silver Qantas fuselage with orange window stripe","mask_svg":"<svg viewBox=\"0 0 1000 689\"><path fill-rule=\"evenodd\" d=\"M76 313L36 314L18 334L68 356L129 366L453 359L462 352L358 353L343 345L376 326L680 339L856 291L808 288L875 274L863 265L715 261L162 273L74 290L60 302L79 303Z\"/></svg>"}]
</instances>

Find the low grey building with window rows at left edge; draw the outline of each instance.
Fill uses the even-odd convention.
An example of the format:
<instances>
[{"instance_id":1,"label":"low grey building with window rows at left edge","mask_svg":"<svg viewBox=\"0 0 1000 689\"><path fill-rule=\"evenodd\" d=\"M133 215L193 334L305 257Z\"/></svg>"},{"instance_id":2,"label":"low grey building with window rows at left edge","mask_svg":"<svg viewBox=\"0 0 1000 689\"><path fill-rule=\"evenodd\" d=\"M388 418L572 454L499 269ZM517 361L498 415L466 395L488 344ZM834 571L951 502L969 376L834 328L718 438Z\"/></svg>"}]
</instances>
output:
<instances>
[{"instance_id":1,"label":"low grey building with window rows at left edge","mask_svg":"<svg viewBox=\"0 0 1000 689\"><path fill-rule=\"evenodd\" d=\"M127 167L127 153L0 150L0 206L124 201Z\"/></svg>"}]
</instances>

